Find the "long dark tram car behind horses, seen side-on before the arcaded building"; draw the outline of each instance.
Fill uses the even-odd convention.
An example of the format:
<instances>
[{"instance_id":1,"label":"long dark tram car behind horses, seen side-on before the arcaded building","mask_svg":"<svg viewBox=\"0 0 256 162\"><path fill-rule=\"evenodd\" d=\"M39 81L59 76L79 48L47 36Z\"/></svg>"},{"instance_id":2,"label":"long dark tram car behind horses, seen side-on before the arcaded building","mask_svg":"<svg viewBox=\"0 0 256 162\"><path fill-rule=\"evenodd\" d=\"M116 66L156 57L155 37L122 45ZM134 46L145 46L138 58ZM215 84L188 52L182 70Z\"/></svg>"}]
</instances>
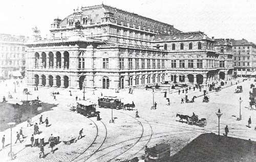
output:
<instances>
[{"instance_id":1,"label":"long dark tram car behind horses, seen side-on before the arcaded building","mask_svg":"<svg viewBox=\"0 0 256 162\"><path fill-rule=\"evenodd\" d=\"M110 97L104 96L98 99L99 107L104 108L114 108L114 109L122 109L123 103L121 102L121 98L118 97Z\"/></svg>"}]
</instances>

